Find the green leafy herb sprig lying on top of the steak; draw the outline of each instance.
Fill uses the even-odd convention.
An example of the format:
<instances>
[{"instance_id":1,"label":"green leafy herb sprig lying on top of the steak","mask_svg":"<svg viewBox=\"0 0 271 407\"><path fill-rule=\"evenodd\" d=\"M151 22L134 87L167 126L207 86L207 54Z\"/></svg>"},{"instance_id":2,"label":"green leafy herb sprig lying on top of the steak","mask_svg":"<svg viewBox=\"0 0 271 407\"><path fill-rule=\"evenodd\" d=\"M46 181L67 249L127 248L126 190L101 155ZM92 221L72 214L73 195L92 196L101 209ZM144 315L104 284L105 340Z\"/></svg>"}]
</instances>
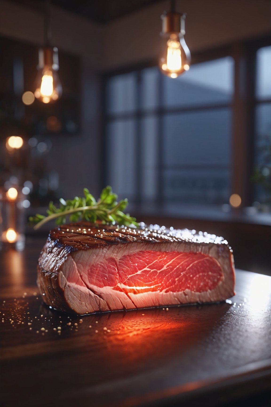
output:
<instances>
[{"instance_id":1,"label":"green leafy herb sprig lying on top of the steak","mask_svg":"<svg viewBox=\"0 0 271 407\"><path fill-rule=\"evenodd\" d=\"M38 229L52 219L56 219L57 225L62 225L66 223L66 217L69 215L69 221L71 222L83 220L95 223L99 220L102 223L111 223L113 225L117 223L124 226L130 226L131 224L139 226L135 218L123 212L128 205L128 199L117 202L117 195L112 192L111 186L106 186L102 190L98 201L89 193L87 188L84 188L84 195L82 198L75 197L67 201L60 198L59 208L56 208L51 201L49 209L46 211L48 216L36 214L36 216L30 217L29 221L36 223L34 229Z\"/></svg>"}]
</instances>

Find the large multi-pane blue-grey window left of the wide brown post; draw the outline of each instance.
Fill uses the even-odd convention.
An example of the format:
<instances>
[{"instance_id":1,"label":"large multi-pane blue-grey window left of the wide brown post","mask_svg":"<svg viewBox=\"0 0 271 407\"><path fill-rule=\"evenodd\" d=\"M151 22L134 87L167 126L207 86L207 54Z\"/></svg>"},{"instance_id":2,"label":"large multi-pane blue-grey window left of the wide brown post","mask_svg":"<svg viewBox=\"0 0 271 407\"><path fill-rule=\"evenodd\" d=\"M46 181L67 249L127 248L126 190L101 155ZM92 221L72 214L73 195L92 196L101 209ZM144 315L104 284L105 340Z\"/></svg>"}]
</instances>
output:
<instances>
[{"instance_id":1,"label":"large multi-pane blue-grey window left of the wide brown post","mask_svg":"<svg viewBox=\"0 0 271 407\"><path fill-rule=\"evenodd\" d=\"M131 201L224 204L230 196L234 61L106 80L106 182Z\"/></svg>"}]
</instances>

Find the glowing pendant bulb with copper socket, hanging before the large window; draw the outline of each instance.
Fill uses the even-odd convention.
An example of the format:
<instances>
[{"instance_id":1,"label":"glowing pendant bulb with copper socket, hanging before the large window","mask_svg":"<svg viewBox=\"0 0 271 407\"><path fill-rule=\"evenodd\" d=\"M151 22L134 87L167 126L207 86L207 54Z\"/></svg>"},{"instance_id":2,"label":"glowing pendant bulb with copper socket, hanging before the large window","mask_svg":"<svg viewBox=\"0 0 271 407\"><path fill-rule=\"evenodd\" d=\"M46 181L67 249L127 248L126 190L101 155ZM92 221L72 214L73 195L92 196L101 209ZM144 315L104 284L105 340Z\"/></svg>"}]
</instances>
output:
<instances>
[{"instance_id":1,"label":"glowing pendant bulb with copper socket, hanging before the large window","mask_svg":"<svg viewBox=\"0 0 271 407\"><path fill-rule=\"evenodd\" d=\"M189 70L191 54L184 41L186 14L170 11L161 15L162 19L162 53L159 68L164 75L177 78Z\"/></svg>"}]
</instances>

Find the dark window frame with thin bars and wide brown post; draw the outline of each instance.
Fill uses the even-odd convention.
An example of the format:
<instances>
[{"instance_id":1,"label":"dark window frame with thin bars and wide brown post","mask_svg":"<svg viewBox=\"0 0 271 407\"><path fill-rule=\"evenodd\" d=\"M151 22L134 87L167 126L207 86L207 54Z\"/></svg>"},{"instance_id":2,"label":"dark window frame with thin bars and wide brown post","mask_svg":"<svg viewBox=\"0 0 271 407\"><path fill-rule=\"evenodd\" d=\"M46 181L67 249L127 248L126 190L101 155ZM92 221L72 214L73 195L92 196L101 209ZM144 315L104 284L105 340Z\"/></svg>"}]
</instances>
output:
<instances>
[{"instance_id":1,"label":"dark window frame with thin bars and wide brown post","mask_svg":"<svg viewBox=\"0 0 271 407\"><path fill-rule=\"evenodd\" d=\"M163 114L174 111L174 112L184 112L185 110L199 110L199 109L211 109L211 108L221 108L230 107L232 109L232 168L231 168L231 188L230 194L237 193L241 196L243 206L249 206L254 201L254 185L251 182L251 177L253 175L255 167L254 159L254 146L256 137L256 123L255 123L255 107L258 103L271 103L271 99L268 101L257 101L256 100L256 53L257 50L271 45L271 35L261 37L258 39L250 39L247 41L238 41L226 46L219 48L212 48L208 50L203 50L198 53L193 53L192 64L197 64L206 61L212 61L215 59L223 57L232 57L234 59L234 94L232 98L232 103L221 103L221 104L208 104L206 107L202 108L200 106L195 107L178 107L178 108L165 108L162 106L162 80L160 79L159 90L158 90L158 107L152 109L153 114L157 114L160 123L158 125L158 161L161 162L162 159L162 126L161 120ZM106 81L108 78L119 74L125 74L130 72L137 72L137 85L140 84L140 71L144 68L149 68L153 66L158 66L156 60L145 61L139 64L134 64L130 66L121 67L115 70L110 70L102 75L102 151L103 154L106 151L106 126L110 118L106 114ZM137 86L137 108L134 113L119 114L115 115L115 118L121 118L122 116L131 118L136 118L137 123L139 119L144 116L139 107L140 100L140 86ZM142 191L141 191L141 133L140 126L137 124L137 202L136 204L142 204ZM107 165L104 164L102 173L102 184L106 184L107 180ZM163 169L158 169L158 194L156 197L156 204L163 204L163 197L161 199L160 191L163 191Z\"/></svg>"}]
</instances>

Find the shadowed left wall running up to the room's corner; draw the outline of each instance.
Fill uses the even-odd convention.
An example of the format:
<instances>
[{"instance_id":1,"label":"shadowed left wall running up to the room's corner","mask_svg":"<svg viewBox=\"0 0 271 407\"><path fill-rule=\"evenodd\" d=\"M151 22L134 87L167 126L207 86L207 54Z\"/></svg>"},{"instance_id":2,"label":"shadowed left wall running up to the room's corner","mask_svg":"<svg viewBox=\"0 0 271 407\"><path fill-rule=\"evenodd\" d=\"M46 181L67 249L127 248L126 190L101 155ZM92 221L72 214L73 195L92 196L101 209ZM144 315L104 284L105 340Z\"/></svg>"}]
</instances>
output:
<instances>
[{"instance_id":1,"label":"shadowed left wall running up to the room's corner","mask_svg":"<svg viewBox=\"0 0 271 407\"><path fill-rule=\"evenodd\" d=\"M43 15L18 4L0 1L0 35L43 43ZM71 197L88 186L100 190L100 47L102 28L89 20L52 8L52 44L81 60L82 131L79 136L50 137L48 165L59 173L61 193Z\"/></svg>"}]
</instances>

